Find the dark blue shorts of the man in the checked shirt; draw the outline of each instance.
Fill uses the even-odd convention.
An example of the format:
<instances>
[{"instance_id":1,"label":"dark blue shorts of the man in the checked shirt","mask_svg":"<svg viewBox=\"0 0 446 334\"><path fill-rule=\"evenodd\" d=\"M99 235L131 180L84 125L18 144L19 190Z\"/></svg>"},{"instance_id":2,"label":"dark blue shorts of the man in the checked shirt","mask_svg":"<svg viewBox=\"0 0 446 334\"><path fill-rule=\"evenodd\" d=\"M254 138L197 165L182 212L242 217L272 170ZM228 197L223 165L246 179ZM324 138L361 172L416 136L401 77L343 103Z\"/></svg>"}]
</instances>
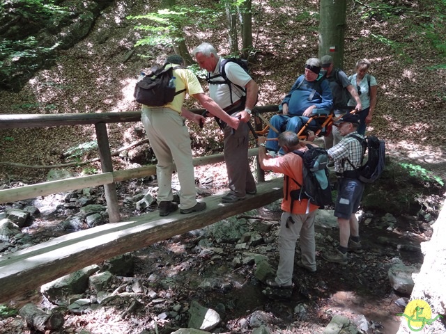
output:
<instances>
[{"instance_id":1,"label":"dark blue shorts of the man in the checked shirt","mask_svg":"<svg viewBox=\"0 0 446 334\"><path fill-rule=\"evenodd\" d=\"M360 207L364 184L360 180L341 177L338 179L337 199L334 216L350 219Z\"/></svg>"}]
</instances>

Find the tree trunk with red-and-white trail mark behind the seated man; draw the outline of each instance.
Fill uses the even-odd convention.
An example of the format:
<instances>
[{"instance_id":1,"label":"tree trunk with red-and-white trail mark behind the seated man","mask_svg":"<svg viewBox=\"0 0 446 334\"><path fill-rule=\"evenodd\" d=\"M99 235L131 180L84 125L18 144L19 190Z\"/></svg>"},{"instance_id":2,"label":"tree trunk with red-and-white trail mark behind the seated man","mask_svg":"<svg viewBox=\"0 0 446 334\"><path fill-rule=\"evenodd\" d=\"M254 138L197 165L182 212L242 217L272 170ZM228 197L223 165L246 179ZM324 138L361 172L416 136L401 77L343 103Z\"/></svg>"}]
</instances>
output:
<instances>
[{"instance_id":1,"label":"tree trunk with red-and-white trail mark behind the seated man","mask_svg":"<svg viewBox=\"0 0 446 334\"><path fill-rule=\"evenodd\" d=\"M321 0L319 24L319 58L329 54L334 67L344 65L344 33L346 29L346 0Z\"/></svg>"}]
</instances>

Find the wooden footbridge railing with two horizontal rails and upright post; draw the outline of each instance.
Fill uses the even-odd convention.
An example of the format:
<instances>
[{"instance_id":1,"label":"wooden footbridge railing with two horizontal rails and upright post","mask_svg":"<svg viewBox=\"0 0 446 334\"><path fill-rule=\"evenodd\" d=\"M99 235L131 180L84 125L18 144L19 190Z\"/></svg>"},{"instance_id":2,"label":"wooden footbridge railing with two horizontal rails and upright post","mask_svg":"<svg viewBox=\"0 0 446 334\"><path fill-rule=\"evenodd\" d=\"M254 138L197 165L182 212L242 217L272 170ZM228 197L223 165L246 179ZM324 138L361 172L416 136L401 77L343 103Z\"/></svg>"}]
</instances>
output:
<instances>
[{"instance_id":1,"label":"wooden footbridge railing with two horizontal rails and upright post","mask_svg":"<svg viewBox=\"0 0 446 334\"><path fill-rule=\"evenodd\" d=\"M191 111L201 114L204 110L205 109L192 109ZM274 112L277 110L277 105L256 106L254 108L254 111L256 111L257 113ZM111 223L117 223L118 221L120 221L120 216L118 198L116 196L116 187L114 182L129 180L130 178L135 177L153 175L154 170L153 167L148 169L136 168L137 170L125 170L122 173L117 173L117 176L115 178L116 174L112 168L112 154L110 153L107 127L105 127L105 123L139 122L140 120L140 111L123 113L54 113L38 115L0 114L0 129L95 125L96 138L98 139L99 155L102 167L102 175L84 177L82 178L82 180L76 178L61 181L44 182L43 184L34 184L32 186L24 186L17 189L1 190L0 203L13 202L15 200L24 200L26 198L34 198L36 196L45 196L49 193L55 193L59 191L75 190L79 189L79 186L98 186L102 184L105 187L105 198L107 200L107 207L109 208L109 220ZM256 122L257 121L258 120L256 120ZM257 126L258 124L256 123L256 127ZM256 154L256 152L254 154ZM254 155L253 152L250 152L249 154L250 157ZM206 161L206 159L203 161ZM218 161L224 161L224 159L219 158ZM112 173L112 179L109 173ZM77 182L76 180L80 182ZM260 168L258 168L258 180L264 180L263 170L261 170Z\"/></svg>"}]
</instances>

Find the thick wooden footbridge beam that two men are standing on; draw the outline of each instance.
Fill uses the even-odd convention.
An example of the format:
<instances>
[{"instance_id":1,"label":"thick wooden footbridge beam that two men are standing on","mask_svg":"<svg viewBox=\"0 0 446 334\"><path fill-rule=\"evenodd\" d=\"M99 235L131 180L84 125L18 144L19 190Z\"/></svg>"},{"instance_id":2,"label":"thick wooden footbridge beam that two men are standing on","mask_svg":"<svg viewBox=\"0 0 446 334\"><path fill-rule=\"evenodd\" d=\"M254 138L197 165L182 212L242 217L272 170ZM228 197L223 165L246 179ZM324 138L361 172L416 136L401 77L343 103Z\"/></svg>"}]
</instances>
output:
<instances>
[{"instance_id":1,"label":"thick wooden footbridge beam that two men are standing on","mask_svg":"<svg viewBox=\"0 0 446 334\"><path fill-rule=\"evenodd\" d=\"M208 208L203 212L183 215L178 210L166 217L151 212L4 255L0 257L0 303L110 257L267 205L282 198L282 182L281 178L261 182L255 196L231 204L221 202L223 194L210 196L204 199Z\"/></svg>"}]
</instances>

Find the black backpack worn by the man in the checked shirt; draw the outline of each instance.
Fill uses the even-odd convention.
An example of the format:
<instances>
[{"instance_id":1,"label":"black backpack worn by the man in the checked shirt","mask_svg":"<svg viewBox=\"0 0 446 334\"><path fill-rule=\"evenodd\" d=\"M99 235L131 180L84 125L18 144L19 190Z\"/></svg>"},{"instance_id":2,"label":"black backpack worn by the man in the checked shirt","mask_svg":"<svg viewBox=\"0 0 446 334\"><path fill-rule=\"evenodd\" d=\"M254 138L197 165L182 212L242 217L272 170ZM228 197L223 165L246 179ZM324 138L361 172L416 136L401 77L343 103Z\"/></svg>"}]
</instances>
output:
<instances>
[{"instance_id":1,"label":"black backpack worn by the man in the checked shirt","mask_svg":"<svg viewBox=\"0 0 446 334\"><path fill-rule=\"evenodd\" d=\"M364 183L375 182L385 166L385 141L378 139L376 136L367 136L364 139L361 136L352 135L362 145L364 153L367 151L367 161L363 164L364 154L361 159L361 166L355 168L349 159L346 159L357 173L357 180Z\"/></svg>"}]
</instances>

